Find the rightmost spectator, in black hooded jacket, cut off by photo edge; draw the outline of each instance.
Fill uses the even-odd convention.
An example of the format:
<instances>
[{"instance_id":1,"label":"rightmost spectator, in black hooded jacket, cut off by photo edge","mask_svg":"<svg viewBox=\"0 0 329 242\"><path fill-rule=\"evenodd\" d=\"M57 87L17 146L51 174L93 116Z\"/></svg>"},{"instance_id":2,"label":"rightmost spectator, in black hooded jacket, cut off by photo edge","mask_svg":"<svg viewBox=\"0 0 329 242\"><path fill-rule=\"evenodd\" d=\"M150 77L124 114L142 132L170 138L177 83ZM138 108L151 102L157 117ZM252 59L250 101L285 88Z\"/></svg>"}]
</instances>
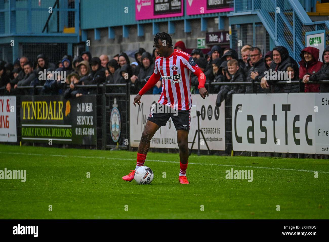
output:
<instances>
[{"instance_id":1,"label":"rightmost spectator, in black hooded jacket, cut off by photo edge","mask_svg":"<svg viewBox=\"0 0 329 242\"><path fill-rule=\"evenodd\" d=\"M323 50L322 61L324 64L321 69L312 76L310 74L303 76L303 82L329 80L329 46ZM321 83L320 92L329 92L329 83Z\"/></svg>"}]
</instances>

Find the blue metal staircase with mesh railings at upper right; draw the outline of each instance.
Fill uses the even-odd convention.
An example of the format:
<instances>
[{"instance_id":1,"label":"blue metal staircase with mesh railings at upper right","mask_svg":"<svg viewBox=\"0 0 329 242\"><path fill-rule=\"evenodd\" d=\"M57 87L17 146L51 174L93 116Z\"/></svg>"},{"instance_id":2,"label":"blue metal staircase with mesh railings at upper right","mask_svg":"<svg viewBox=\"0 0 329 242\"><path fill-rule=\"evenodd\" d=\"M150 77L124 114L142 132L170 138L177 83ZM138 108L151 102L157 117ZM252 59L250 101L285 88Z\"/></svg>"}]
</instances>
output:
<instances>
[{"instance_id":1,"label":"blue metal staircase with mesh railings at upper right","mask_svg":"<svg viewBox=\"0 0 329 242\"><path fill-rule=\"evenodd\" d=\"M325 29L329 21L312 22L297 0L234 0L236 15L256 14L275 45L285 46L291 57L299 59L305 47L305 32Z\"/></svg>"}]
</instances>

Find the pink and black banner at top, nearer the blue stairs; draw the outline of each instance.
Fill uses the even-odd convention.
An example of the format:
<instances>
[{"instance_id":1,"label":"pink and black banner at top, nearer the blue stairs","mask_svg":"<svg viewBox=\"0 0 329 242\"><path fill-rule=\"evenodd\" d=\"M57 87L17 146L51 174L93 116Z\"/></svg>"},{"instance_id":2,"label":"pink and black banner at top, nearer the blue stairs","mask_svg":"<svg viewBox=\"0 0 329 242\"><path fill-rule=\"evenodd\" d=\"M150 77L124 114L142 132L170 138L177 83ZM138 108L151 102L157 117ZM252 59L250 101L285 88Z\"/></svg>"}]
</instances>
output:
<instances>
[{"instance_id":1,"label":"pink and black banner at top, nearer the blue stairs","mask_svg":"<svg viewBox=\"0 0 329 242\"><path fill-rule=\"evenodd\" d=\"M186 14L210 14L220 12L231 12L233 0L186 0Z\"/></svg>"}]
</instances>

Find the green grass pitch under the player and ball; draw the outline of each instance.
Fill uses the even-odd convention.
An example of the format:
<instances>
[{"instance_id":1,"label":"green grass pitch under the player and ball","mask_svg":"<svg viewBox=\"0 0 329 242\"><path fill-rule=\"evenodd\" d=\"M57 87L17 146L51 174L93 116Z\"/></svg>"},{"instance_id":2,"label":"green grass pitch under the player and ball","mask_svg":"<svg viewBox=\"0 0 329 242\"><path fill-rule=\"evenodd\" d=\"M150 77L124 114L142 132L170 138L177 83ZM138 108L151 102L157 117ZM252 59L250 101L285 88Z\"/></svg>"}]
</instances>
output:
<instances>
[{"instance_id":1,"label":"green grass pitch under the player and ball","mask_svg":"<svg viewBox=\"0 0 329 242\"><path fill-rule=\"evenodd\" d=\"M154 180L138 185L121 179L136 156L0 145L0 170L26 170L26 182L0 180L0 219L329 219L328 160L192 155L182 185L179 155L150 152ZM253 181L226 179L231 168Z\"/></svg>"}]
</instances>

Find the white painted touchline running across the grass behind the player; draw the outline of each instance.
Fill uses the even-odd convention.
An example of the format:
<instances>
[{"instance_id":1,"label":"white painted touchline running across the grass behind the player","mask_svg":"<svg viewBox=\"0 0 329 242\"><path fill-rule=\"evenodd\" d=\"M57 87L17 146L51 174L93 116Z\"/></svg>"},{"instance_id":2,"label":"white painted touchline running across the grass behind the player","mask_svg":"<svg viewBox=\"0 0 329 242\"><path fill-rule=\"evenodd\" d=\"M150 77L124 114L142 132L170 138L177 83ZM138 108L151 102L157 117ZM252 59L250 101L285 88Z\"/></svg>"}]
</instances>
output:
<instances>
[{"instance_id":1,"label":"white painted touchline running across the grass behind the player","mask_svg":"<svg viewBox=\"0 0 329 242\"><path fill-rule=\"evenodd\" d=\"M124 159L124 158L109 158L109 157L96 157L96 156L68 156L68 155L44 155L44 154L32 154L32 153L17 153L17 152L0 152L0 154L13 154L13 155L34 155L34 156L56 156L56 157L75 157L75 158L86 158L86 159L109 159L109 160L125 160L125 161L136 161L136 159ZM178 163L177 161L162 161L162 160L146 160L154 162L165 162L165 163ZM291 171L305 171L305 172L319 172L329 174L329 171L318 171L318 170L304 170L304 169L290 169L290 168L274 168L274 167L262 167L262 166L238 166L238 165L223 165L223 164L202 164L192 163L192 165L203 165L203 166L235 166L235 167L248 167L248 168L259 168L259 169L273 169L273 170L291 170Z\"/></svg>"}]
</instances>

